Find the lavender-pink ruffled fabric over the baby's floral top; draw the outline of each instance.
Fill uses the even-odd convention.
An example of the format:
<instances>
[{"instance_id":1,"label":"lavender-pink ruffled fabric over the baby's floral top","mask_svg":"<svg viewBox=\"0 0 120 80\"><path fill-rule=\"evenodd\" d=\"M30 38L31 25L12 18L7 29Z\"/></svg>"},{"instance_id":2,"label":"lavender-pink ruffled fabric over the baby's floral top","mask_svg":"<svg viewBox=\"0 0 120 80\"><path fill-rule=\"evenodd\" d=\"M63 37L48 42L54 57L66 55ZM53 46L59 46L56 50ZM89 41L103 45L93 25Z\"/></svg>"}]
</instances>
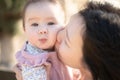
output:
<instances>
[{"instance_id":1,"label":"lavender-pink ruffled fabric over the baby's floral top","mask_svg":"<svg viewBox=\"0 0 120 80\"><path fill-rule=\"evenodd\" d=\"M44 65L48 74L48 80L79 80L80 73L70 73L68 67L58 59L56 52L31 55L25 51L25 48L26 44L16 54L16 59L20 65L24 64L33 67ZM74 72L77 69L71 70Z\"/></svg>"}]
</instances>

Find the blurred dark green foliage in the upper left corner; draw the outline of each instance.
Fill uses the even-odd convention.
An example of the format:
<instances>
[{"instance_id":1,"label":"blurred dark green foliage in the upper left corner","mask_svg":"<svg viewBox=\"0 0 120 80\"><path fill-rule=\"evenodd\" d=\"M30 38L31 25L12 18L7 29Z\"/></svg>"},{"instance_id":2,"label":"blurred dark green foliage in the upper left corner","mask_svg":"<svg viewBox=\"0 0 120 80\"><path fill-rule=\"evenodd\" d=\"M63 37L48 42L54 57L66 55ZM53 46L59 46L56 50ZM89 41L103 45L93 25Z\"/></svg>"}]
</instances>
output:
<instances>
[{"instance_id":1,"label":"blurred dark green foliage in the upper left corner","mask_svg":"<svg viewBox=\"0 0 120 80\"><path fill-rule=\"evenodd\" d=\"M0 0L0 35L16 33L26 0Z\"/></svg>"}]
</instances>

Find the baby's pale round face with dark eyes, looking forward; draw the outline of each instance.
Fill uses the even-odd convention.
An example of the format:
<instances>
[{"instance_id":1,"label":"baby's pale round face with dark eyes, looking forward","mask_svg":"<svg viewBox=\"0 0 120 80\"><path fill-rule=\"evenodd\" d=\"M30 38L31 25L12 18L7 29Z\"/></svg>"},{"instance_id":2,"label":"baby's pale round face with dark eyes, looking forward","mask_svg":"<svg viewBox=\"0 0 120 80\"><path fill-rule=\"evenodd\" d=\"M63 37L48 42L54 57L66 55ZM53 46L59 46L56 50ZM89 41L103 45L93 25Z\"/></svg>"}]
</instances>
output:
<instances>
[{"instance_id":1,"label":"baby's pale round face with dark eyes, looking forward","mask_svg":"<svg viewBox=\"0 0 120 80\"><path fill-rule=\"evenodd\" d=\"M28 41L41 49L51 49L57 32L64 24L63 11L49 2L33 3L25 12L25 33ZM62 16L60 16L62 15Z\"/></svg>"}]
</instances>

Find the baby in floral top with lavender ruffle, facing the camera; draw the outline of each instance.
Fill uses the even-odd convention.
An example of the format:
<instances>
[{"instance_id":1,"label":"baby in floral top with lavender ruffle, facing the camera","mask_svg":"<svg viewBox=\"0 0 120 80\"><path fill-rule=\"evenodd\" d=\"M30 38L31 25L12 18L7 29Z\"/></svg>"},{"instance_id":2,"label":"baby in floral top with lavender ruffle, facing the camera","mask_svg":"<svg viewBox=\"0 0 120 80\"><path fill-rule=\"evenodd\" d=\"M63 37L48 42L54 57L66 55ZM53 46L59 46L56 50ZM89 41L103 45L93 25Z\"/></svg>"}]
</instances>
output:
<instances>
[{"instance_id":1,"label":"baby in floral top with lavender ruffle, facing the camera","mask_svg":"<svg viewBox=\"0 0 120 80\"><path fill-rule=\"evenodd\" d=\"M23 80L48 80L45 60L54 51L57 32L64 24L64 10L58 1L29 0L24 8L23 27L27 36L16 59Z\"/></svg>"}]
</instances>

